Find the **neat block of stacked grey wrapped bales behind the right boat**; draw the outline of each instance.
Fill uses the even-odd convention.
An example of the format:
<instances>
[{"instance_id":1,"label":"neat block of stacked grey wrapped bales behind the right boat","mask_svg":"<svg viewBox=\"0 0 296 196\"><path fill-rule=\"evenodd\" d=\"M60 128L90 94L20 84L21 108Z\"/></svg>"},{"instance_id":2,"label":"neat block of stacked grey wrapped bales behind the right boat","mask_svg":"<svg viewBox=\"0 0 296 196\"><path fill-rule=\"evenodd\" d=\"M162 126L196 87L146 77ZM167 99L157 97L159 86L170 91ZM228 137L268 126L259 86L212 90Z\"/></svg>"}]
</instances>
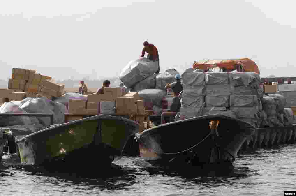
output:
<instances>
[{"instance_id":1,"label":"neat block of stacked grey wrapped bales behind the right boat","mask_svg":"<svg viewBox=\"0 0 296 196\"><path fill-rule=\"evenodd\" d=\"M258 126L262 110L260 77L251 72L184 72L180 119L209 114L239 118Z\"/></svg>"}]
</instances>

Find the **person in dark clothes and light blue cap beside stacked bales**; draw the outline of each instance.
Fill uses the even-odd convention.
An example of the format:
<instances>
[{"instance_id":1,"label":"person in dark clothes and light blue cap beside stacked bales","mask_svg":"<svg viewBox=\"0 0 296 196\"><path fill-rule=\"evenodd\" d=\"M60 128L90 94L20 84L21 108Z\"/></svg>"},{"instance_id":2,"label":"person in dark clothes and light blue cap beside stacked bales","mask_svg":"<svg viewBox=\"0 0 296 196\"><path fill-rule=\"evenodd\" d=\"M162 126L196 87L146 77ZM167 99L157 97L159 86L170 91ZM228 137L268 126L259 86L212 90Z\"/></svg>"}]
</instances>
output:
<instances>
[{"instance_id":1,"label":"person in dark clothes and light blue cap beside stacked bales","mask_svg":"<svg viewBox=\"0 0 296 196\"><path fill-rule=\"evenodd\" d=\"M172 105L170 106L170 112L180 112L181 101L178 98L180 92L183 90L183 85L181 84L181 75L176 74L175 76L176 82L172 82L170 84L165 85L165 88L171 88L174 93L174 98L172 101ZM170 117L170 122L174 121L175 117Z\"/></svg>"}]
</instances>

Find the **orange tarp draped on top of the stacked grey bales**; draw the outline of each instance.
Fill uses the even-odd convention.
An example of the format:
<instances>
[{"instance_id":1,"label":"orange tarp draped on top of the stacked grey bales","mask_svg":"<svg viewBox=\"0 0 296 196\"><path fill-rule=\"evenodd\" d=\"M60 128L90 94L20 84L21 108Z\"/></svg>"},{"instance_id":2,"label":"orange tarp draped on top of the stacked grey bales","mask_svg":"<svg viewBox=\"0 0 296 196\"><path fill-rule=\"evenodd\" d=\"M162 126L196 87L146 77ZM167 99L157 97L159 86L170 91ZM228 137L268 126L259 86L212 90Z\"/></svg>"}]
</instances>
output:
<instances>
[{"instance_id":1,"label":"orange tarp draped on top of the stacked grey bales","mask_svg":"<svg viewBox=\"0 0 296 196\"><path fill-rule=\"evenodd\" d=\"M257 64L249 58L230 59L230 60L208 60L196 62L192 65L194 69L209 69L213 67L225 67L226 69L234 70L236 65L241 64L246 72L255 72L260 74Z\"/></svg>"}]
</instances>

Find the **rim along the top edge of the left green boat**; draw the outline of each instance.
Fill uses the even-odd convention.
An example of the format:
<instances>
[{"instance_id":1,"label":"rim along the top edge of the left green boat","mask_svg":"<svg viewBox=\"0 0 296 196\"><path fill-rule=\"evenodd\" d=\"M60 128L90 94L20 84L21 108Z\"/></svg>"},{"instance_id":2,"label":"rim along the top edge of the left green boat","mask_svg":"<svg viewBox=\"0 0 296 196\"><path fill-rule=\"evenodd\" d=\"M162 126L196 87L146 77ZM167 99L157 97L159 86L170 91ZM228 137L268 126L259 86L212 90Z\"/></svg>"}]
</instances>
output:
<instances>
[{"instance_id":1,"label":"rim along the top edge of the left green boat","mask_svg":"<svg viewBox=\"0 0 296 196\"><path fill-rule=\"evenodd\" d=\"M139 129L139 123L135 122L135 121L133 121L131 119L123 118L121 116L110 116L110 115L106 115L106 114L99 114L99 115L96 115L96 116L90 116L90 117L86 117L86 118L83 118L83 119L74 120L74 121L63 123L63 124L55 125L55 126L52 126L52 127L48 127L46 129L42 129L40 131L31 133L29 135L25 135L20 140L17 140L16 143L22 142L22 140L25 140L26 137L30 137L30 136L36 135L38 133L41 133L41 132L45 132L45 131L49 131L49 130L52 130L52 129L65 127L65 126L72 125L72 124L77 124L77 123L80 123L80 122L90 121L90 120L122 120L123 122L126 122L126 123L128 123L130 125L136 125L136 128Z\"/></svg>"}]
</instances>

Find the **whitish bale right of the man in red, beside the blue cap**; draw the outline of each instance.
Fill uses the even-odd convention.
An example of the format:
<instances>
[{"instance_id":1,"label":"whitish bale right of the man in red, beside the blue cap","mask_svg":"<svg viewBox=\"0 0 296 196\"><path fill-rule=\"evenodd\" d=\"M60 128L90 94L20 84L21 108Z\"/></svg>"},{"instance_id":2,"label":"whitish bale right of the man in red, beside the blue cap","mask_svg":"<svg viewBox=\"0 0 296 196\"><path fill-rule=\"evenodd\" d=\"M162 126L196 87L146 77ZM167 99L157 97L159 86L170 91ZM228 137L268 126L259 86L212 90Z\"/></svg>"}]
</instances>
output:
<instances>
[{"instance_id":1,"label":"whitish bale right of the man in red, beside the blue cap","mask_svg":"<svg viewBox=\"0 0 296 196\"><path fill-rule=\"evenodd\" d=\"M164 73L157 74L155 77L155 88L165 90L165 85L176 82L175 76L178 73L176 69L167 69Z\"/></svg>"}]
</instances>

